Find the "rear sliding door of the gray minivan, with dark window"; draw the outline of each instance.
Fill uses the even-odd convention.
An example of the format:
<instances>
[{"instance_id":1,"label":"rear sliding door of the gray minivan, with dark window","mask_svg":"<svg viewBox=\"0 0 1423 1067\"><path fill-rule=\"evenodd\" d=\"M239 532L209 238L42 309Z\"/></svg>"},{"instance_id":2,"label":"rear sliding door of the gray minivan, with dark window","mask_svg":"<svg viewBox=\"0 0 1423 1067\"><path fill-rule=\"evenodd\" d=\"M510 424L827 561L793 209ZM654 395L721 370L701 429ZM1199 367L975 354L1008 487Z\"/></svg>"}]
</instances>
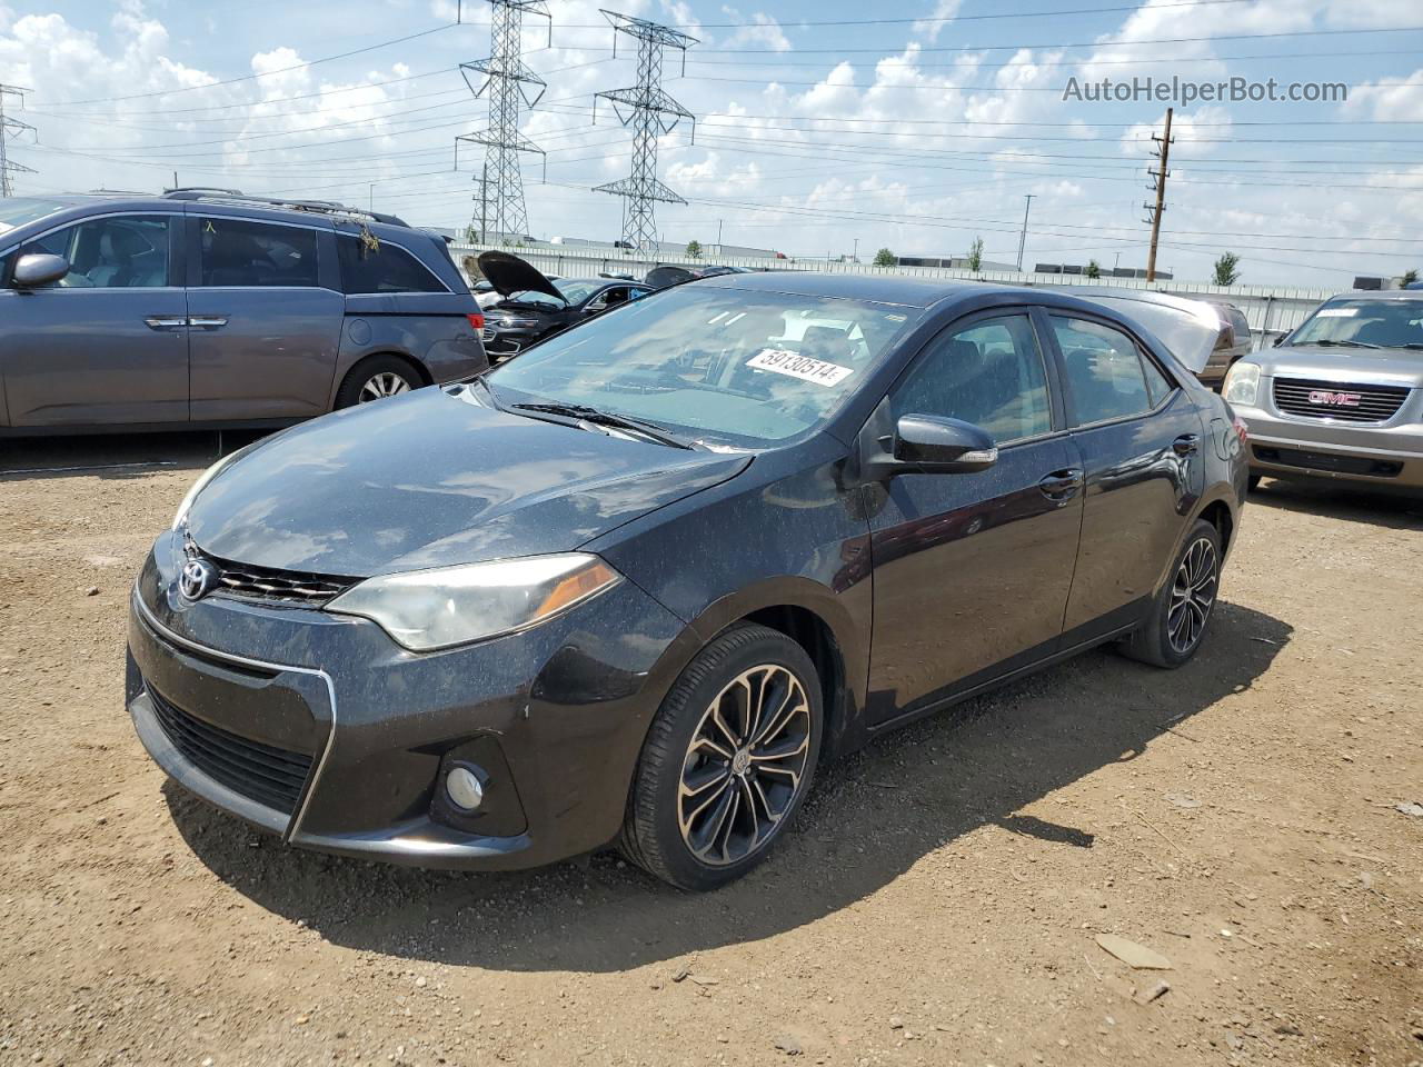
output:
<instances>
[{"instance_id":1,"label":"rear sliding door of the gray minivan, with dark window","mask_svg":"<svg viewBox=\"0 0 1423 1067\"><path fill-rule=\"evenodd\" d=\"M219 213L188 230L194 421L326 411L346 313L332 230Z\"/></svg>"}]
</instances>

